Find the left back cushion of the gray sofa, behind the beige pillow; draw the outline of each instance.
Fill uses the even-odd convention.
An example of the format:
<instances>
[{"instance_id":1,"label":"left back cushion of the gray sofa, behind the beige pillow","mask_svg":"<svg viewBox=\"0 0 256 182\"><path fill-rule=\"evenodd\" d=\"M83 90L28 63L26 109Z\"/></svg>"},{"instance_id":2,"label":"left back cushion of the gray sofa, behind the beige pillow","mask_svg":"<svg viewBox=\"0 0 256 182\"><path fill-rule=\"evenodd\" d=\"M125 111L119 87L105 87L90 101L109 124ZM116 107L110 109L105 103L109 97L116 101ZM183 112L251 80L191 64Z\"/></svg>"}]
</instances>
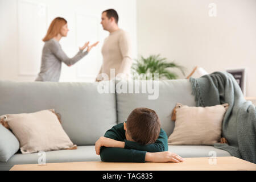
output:
<instances>
[{"instance_id":1,"label":"left back cushion of the gray sofa, behind the beige pillow","mask_svg":"<svg viewBox=\"0 0 256 182\"><path fill-rule=\"evenodd\" d=\"M94 144L117 124L115 94L99 93L98 84L0 81L0 115L54 108L73 143Z\"/></svg>"}]
</instances>

